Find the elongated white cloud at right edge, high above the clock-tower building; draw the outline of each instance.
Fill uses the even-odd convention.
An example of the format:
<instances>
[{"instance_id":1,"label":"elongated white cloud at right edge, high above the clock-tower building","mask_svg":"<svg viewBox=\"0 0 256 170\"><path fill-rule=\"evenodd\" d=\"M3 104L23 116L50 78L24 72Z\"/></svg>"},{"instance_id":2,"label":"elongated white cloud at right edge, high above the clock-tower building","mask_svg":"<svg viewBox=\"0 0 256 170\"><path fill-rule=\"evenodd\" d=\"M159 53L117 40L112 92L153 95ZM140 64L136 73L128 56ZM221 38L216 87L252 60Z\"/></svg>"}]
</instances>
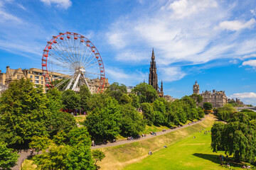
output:
<instances>
[{"instance_id":1,"label":"elongated white cloud at right edge, high above the clock-tower building","mask_svg":"<svg viewBox=\"0 0 256 170\"><path fill-rule=\"evenodd\" d=\"M251 18L250 21L223 21L219 24L218 28L225 30L242 30L245 28L252 28L255 26L255 18Z\"/></svg>"}]
</instances>

